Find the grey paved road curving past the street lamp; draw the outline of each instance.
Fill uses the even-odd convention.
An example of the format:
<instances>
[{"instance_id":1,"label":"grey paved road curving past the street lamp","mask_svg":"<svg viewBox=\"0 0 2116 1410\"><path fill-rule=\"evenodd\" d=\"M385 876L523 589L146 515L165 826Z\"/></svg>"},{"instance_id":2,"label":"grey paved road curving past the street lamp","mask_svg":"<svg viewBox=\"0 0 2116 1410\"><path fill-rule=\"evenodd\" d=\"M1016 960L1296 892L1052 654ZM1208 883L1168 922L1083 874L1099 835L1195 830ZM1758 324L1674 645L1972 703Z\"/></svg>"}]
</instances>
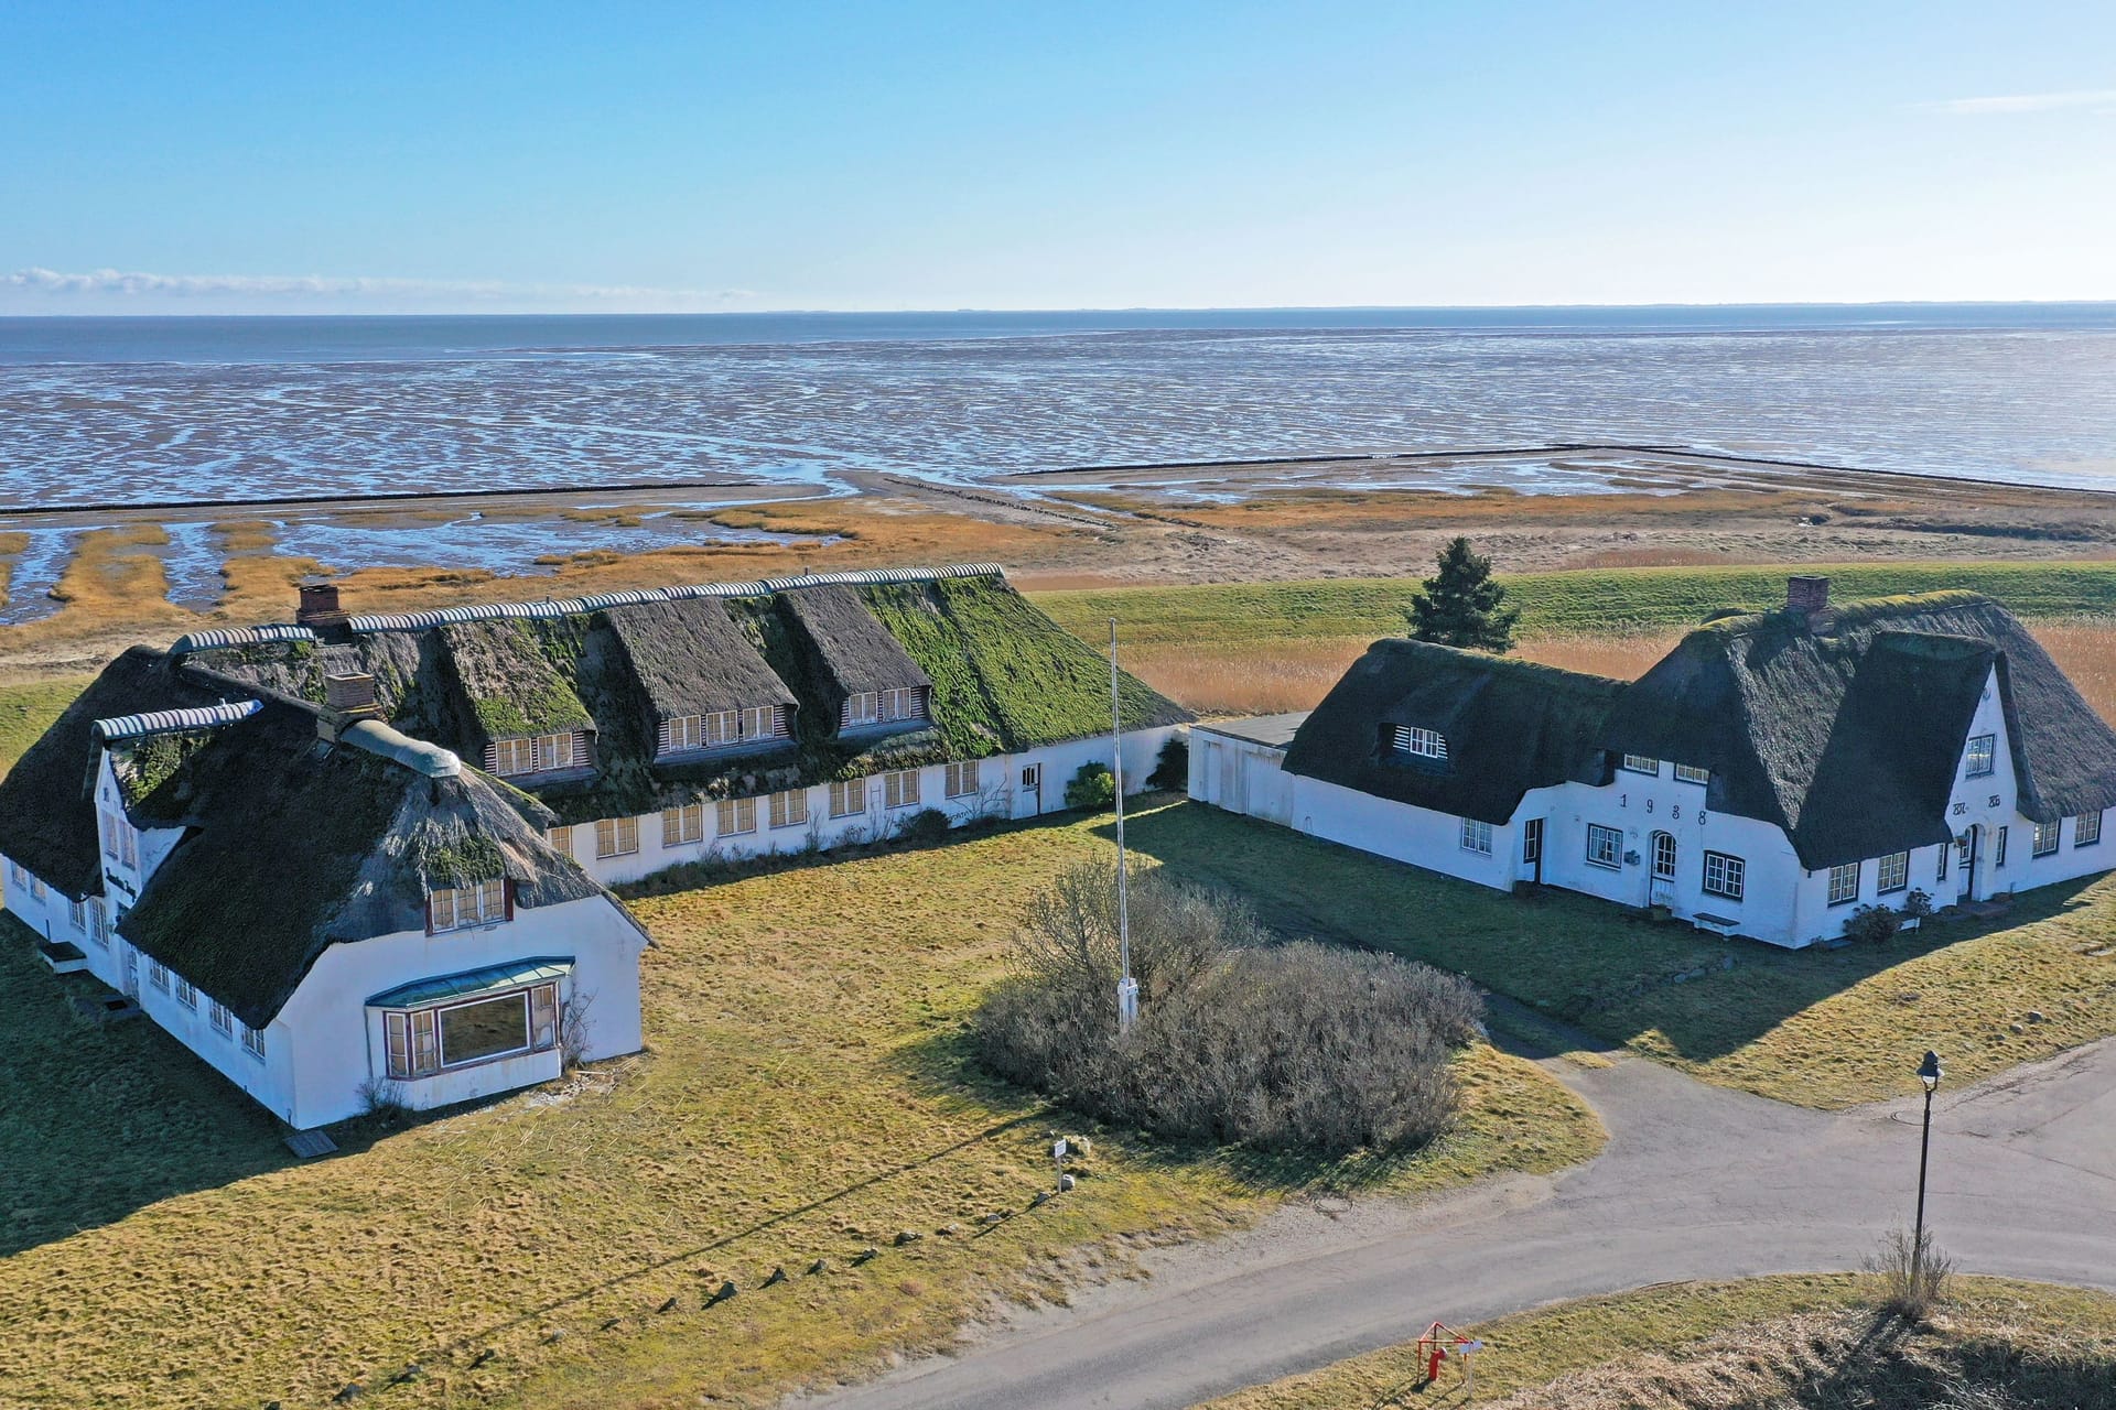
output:
<instances>
[{"instance_id":1,"label":"grey paved road curving past the street lamp","mask_svg":"<svg viewBox=\"0 0 2116 1410\"><path fill-rule=\"evenodd\" d=\"M1502 1180L1331 1220L1289 1209L1147 1258L825 1397L832 1410L1191 1406L1449 1323L1672 1279L1856 1268L1911 1224L1919 1099L1807 1112L1638 1057L1551 1063L1610 1144L1555 1180ZM1964 1273L2116 1290L2116 1040L1934 1103L1926 1220Z\"/></svg>"}]
</instances>

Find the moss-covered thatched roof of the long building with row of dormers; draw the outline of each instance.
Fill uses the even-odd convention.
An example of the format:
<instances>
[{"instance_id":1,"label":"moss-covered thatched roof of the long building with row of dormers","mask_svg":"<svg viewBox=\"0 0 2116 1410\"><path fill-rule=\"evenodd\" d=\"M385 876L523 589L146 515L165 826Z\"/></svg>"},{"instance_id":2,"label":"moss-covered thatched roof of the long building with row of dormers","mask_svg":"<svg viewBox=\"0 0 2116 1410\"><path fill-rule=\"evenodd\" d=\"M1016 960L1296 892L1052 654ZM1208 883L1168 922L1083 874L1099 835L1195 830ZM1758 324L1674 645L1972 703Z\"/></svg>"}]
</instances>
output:
<instances>
[{"instance_id":1,"label":"moss-covered thatched roof of the long building with row of dormers","mask_svg":"<svg viewBox=\"0 0 2116 1410\"><path fill-rule=\"evenodd\" d=\"M482 630L474 653L459 647L470 628ZM468 681L461 660L476 662ZM366 672L391 725L470 759L491 738L470 683L525 719L578 719L578 706L597 731L592 776L525 780L567 822L1016 753L1109 729L1109 662L999 573L358 632L298 657L288 647L245 645L201 651L190 662L231 689L303 700L322 698L326 672ZM495 672L510 674L501 681ZM559 700L559 710L523 708L518 681L537 681L535 700ZM749 698L766 685L783 695ZM931 685L927 727L838 738L846 693L918 685ZM794 736L766 748L654 757L656 719L732 708L736 698L789 700ZM1121 698L1126 727L1189 719L1128 674Z\"/></svg>"}]
</instances>

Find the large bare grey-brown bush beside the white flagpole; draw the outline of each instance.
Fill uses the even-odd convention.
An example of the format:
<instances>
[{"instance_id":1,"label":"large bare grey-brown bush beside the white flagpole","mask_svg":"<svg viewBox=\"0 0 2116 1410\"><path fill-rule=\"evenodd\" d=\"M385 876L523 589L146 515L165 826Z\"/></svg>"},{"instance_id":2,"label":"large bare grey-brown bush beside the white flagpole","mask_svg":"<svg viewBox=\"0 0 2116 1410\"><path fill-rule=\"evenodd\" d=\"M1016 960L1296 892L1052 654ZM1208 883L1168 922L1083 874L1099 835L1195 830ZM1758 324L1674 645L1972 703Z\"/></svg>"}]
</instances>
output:
<instances>
[{"instance_id":1,"label":"large bare grey-brown bush beside the white flagpole","mask_svg":"<svg viewBox=\"0 0 2116 1410\"><path fill-rule=\"evenodd\" d=\"M1449 1049L1483 1004L1462 979L1388 956L1270 947L1240 898L1162 873L1132 882L1141 1015L1117 1032L1115 869L1035 896L1014 977L975 1019L982 1063L1081 1112L1174 1139L1339 1156L1439 1135Z\"/></svg>"}]
</instances>

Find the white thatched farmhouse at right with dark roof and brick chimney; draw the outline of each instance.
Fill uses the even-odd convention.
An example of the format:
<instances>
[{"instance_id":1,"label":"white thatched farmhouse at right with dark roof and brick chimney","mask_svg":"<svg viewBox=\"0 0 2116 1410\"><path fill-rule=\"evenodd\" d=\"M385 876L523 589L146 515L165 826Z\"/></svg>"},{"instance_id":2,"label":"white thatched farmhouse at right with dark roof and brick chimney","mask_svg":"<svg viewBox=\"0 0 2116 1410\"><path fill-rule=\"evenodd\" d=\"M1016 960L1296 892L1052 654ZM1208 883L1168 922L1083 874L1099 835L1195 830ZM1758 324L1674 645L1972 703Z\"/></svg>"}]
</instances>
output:
<instances>
[{"instance_id":1,"label":"white thatched farmhouse at right with dark roof and brick chimney","mask_svg":"<svg viewBox=\"0 0 2116 1410\"><path fill-rule=\"evenodd\" d=\"M2010 613L1968 592L1832 609L1822 577L1634 683L1380 641L1306 719L1200 725L1191 795L1790 947L1911 892L2116 865L2116 731Z\"/></svg>"}]
</instances>

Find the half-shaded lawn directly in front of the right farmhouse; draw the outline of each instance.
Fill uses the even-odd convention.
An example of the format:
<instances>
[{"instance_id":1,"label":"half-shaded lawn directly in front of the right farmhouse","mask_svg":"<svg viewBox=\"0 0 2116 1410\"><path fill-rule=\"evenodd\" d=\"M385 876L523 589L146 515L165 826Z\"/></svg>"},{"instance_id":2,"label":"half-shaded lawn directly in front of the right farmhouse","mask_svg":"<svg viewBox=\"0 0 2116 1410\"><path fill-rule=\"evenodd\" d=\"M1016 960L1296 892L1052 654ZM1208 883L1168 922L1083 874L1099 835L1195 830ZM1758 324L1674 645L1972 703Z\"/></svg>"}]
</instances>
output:
<instances>
[{"instance_id":1,"label":"half-shaded lawn directly in front of the right farmhouse","mask_svg":"<svg viewBox=\"0 0 2116 1410\"><path fill-rule=\"evenodd\" d=\"M1282 932L1458 970L1610 1044L1799 1106L1902 1095L1928 1046L1976 1080L2116 1032L2116 877L2027 892L2004 922L1786 951L1572 892L1507 896L1202 803L1143 814L1128 837L1248 892Z\"/></svg>"}]
</instances>

